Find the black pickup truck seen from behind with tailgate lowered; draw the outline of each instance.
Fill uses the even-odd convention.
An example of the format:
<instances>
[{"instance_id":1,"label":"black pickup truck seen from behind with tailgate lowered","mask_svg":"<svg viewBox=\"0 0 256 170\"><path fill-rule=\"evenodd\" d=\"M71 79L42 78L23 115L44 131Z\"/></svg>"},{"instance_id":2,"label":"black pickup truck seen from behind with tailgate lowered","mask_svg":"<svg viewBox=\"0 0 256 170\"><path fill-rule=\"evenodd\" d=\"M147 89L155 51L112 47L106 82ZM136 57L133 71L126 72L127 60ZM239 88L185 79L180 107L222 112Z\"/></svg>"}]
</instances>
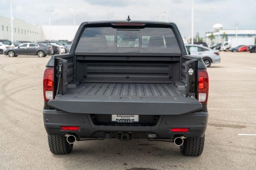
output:
<instances>
[{"instance_id":1,"label":"black pickup truck seen from behind with tailgate lowered","mask_svg":"<svg viewBox=\"0 0 256 170\"><path fill-rule=\"evenodd\" d=\"M174 23L88 21L68 54L44 72L44 126L50 151L76 141L174 142L199 156L208 121L208 74L188 55Z\"/></svg>"}]
</instances>

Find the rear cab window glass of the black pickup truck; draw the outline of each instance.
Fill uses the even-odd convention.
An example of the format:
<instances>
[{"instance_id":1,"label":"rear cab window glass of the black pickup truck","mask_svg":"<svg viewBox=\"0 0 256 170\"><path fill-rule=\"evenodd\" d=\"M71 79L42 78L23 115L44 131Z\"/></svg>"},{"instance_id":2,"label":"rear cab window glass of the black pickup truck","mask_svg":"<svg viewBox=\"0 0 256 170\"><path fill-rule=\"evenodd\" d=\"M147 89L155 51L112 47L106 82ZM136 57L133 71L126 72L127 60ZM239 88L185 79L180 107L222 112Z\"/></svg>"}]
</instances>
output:
<instances>
[{"instance_id":1,"label":"rear cab window glass of the black pickup truck","mask_svg":"<svg viewBox=\"0 0 256 170\"><path fill-rule=\"evenodd\" d=\"M86 27L75 53L181 53L171 28Z\"/></svg>"}]
</instances>

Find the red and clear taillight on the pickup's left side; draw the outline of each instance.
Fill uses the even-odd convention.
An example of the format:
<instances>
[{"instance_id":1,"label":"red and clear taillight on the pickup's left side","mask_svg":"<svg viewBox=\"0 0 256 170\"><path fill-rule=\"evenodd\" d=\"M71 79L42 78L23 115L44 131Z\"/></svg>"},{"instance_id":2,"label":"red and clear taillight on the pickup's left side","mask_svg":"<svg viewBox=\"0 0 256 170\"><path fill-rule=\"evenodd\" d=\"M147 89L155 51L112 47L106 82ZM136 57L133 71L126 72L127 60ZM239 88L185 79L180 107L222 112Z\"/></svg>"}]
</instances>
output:
<instances>
[{"instance_id":1,"label":"red and clear taillight on the pickup's left side","mask_svg":"<svg viewBox=\"0 0 256 170\"><path fill-rule=\"evenodd\" d=\"M44 79L43 79L43 91L44 91L44 102L48 102L51 99L54 99L54 68L46 67L44 70Z\"/></svg>"}]
</instances>

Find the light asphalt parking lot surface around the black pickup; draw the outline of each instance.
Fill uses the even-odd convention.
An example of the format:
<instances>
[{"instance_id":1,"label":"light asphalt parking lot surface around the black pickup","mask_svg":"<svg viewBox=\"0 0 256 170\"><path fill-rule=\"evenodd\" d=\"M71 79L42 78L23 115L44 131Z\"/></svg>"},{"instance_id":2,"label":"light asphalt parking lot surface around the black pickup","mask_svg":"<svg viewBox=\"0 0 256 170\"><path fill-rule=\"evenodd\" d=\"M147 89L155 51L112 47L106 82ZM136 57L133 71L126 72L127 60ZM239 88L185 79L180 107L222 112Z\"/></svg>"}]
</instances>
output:
<instances>
[{"instance_id":1,"label":"light asphalt parking lot surface around the black pickup","mask_svg":"<svg viewBox=\"0 0 256 170\"><path fill-rule=\"evenodd\" d=\"M80 141L68 155L52 154L42 119L49 57L0 55L0 168L255 169L256 53L220 55L221 64L208 68L209 121L199 157L182 156L173 143L111 139Z\"/></svg>"}]
</instances>

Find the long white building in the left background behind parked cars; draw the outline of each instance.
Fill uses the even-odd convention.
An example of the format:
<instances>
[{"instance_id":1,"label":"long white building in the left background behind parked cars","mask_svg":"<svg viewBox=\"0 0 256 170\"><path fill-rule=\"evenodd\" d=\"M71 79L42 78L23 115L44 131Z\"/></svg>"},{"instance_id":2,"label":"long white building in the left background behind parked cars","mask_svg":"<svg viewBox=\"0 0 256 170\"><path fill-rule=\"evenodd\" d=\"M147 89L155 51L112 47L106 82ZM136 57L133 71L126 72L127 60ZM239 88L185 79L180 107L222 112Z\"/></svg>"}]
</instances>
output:
<instances>
[{"instance_id":1,"label":"long white building in the left background behind parked cars","mask_svg":"<svg viewBox=\"0 0 256 170\"><path fill-rule=\"evenodd\" d=\"M11 20L0 16L0 39L11 40ZM39 25L13 18L14 41L72 41L79 25Z\"/></svg>"}]
</instances>

